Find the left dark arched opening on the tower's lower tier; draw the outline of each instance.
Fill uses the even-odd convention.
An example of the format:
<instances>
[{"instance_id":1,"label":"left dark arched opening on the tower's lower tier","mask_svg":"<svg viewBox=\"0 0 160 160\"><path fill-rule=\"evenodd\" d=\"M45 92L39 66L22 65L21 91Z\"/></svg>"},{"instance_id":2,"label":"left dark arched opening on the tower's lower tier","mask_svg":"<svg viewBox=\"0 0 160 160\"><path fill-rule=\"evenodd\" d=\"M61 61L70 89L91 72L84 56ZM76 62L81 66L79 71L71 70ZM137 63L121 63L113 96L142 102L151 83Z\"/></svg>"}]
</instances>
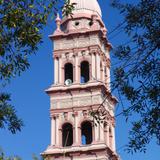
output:
<instances>
[{"instance_id":1,"label":"left dark arched opening on the tower's lower tier","mask_svg":"<svg viewBox=\"0 0 160 160\"><path fill-rule=\"evenodd\" d=\"M73 144L73 127L70 123L62 126L62 145L63 147L72 146Z\"/></svg>"}]
</instances>

